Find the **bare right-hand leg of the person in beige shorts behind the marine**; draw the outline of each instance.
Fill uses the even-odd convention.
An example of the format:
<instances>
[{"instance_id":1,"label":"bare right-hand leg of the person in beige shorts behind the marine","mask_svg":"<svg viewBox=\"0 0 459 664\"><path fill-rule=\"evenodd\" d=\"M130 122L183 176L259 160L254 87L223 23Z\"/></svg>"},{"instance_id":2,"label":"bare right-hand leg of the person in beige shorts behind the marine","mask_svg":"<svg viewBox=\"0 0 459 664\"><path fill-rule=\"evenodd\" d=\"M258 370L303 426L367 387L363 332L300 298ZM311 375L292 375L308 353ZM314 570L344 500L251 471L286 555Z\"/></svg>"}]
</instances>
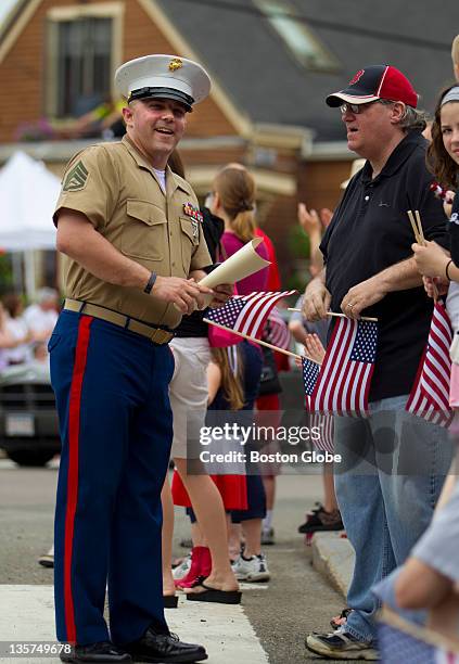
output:
<instances>
[{"instance_id":1,"label":"bare right-hand leg of the person in beige shorts behind the marine","mask_svg":"<svg viewBox=\"0 0 459 664\"><path fill-rule=\"evenodd\" d=\"M220 493L208 475L188 475L186 459L174 461L211 549L212 572L206 584L220 590L237 590L239 585L228 558L227 522ZM199 588L189 591L199 591Z\"/></svg>"}]
</instances>

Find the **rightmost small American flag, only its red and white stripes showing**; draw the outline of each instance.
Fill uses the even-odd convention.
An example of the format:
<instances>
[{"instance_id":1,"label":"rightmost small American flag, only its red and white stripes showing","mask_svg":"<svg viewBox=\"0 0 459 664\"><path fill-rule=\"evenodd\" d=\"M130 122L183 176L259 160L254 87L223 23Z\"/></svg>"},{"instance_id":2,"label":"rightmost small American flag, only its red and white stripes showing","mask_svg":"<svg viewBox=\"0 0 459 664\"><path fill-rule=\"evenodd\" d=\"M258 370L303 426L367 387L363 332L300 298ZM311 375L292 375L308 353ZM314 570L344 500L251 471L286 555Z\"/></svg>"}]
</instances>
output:
<instances>
[{"instance_id":1,"label":"rightmost small American flag, only its red and white stripes showing","mask_svg":"<svg viewBox=\"0 0 459 664\"><path fill-rule=\"evenodd\" d=\"M451 360L449 346L452 330L445 305L435 303L428 345L418 367L415 384L405 407L428 422L449 426L452 419L449 408L449 376Z\"/></svg>"}]
</instances>

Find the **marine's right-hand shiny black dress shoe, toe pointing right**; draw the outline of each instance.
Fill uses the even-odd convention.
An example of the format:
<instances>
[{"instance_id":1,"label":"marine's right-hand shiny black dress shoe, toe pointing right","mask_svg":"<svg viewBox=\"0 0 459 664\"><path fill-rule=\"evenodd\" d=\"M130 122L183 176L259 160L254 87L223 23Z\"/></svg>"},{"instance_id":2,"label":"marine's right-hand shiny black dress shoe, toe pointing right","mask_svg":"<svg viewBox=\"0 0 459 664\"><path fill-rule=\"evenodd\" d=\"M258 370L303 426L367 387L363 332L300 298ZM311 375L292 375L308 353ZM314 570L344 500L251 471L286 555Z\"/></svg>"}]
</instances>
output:
<instances>
[{"instance_id":1,"label":"marine's right-hand shiny black dress shoe, toe pointing right","mask_svg":"<svg viewBox=\"0 0 459 664\"><path fill-rule=\"evenodd\" d=\"M167 627L152 625L137 641L124 647L135 662L161 662L164 664L187 664L202 662L207 653L202 646L183 643Z\"/></svg>"}]
</instances>

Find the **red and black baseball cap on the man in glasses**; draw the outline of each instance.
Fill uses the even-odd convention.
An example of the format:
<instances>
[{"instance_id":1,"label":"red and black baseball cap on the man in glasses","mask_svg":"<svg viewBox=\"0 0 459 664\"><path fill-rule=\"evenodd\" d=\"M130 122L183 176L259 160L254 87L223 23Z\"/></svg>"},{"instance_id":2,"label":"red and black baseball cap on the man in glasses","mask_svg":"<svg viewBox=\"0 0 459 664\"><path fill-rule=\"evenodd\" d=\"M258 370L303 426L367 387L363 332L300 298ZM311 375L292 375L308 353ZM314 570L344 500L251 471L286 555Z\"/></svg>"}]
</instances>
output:
<instances>
[{"instance_id":1,"label":"red and black baseball cap on the man in glasses","mask_svg":"<svg viewBox=\"0 0 459 664\"><path fill-rule=\"evenodd\" d=\"M349 104L367 104L379 99L401 101L416 108L418 94L408 78L392 65L371 65L359 69L344 90L329 94L326 102L329 106L341 106L343 101Z\"/></svg>"}]
</instances>

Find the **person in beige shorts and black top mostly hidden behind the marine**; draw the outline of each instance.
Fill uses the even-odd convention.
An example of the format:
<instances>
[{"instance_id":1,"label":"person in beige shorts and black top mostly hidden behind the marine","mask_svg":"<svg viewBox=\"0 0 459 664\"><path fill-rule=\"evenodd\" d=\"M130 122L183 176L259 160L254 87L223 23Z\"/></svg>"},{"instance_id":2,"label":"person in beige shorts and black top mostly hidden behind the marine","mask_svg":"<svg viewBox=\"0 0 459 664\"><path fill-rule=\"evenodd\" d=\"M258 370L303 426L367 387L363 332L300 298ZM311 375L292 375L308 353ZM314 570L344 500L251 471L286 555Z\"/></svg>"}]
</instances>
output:
<instances>
[{"instance_id":1,"label":"person in beige shorts and black top mostly hidden behind the marine","mask_svg":"<svg viewBox=\"0 0 459 664\"><path fill-rule=\"evenodd\" d=\"M170 167L183 176L183 167L178 153L174 154ZM224 231L221 219L206 208L203 209L202 229L213 261ZM207 546L194 551L196 563L205 556L208 584L218 591L237 591L239 584L228 560L228 536L221 497L205 474L188 472L188 464L197 454L193 445L193 431L204 425L207 406L206 370L211 359L207 339L207 324L203 322L204 312L194 311L184 316L170 343L175 358L175 371L169 385L170 406L174 414L174 440L171 457L181 481L193 502L200 525L205 534ZM163 595L165 606L177 605L175 582L171 574L171 550L174 534L174 505L166 478L162 491L163 505ZM208 547L208 548L207 548ZM193 566L194 573L195 565ZM225 597L225 596L222 596Z\"/></svg>"}]
</instances>

